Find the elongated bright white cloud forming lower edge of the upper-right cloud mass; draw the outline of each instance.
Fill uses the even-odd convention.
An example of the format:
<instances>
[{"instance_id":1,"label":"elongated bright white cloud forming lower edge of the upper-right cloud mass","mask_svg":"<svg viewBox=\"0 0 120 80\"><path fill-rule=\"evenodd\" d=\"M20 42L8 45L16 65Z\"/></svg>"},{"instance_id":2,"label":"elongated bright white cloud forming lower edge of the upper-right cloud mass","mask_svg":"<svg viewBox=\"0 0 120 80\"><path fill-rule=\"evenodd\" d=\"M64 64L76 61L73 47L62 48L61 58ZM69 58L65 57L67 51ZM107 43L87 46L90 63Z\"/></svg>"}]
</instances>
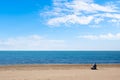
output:
<instances>
[{"instance_id":1,"label":"elongated bright white cloud forming lower edge of the upper-right cloud mass","mask_svg":"<svg viewBox=\"0 0 120 80\"><path fill-rule=\"evenodd\" d=\"M53 18L48 21L49 25L58 25L59 23L69 23L69 24L89 24L93 19L92 16L82 16L81 18L77 17L77 15L67 15L64 17Z\"/></svg>"}]
</instances>

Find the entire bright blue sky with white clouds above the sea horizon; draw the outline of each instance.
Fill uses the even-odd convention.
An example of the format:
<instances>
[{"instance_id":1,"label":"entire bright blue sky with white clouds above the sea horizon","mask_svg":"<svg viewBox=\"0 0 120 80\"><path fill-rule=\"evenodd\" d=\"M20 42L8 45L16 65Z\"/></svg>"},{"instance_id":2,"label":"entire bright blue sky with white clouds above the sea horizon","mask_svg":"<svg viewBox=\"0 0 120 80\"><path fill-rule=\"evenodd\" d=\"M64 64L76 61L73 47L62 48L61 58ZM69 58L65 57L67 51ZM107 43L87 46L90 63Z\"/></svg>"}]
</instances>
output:
<instances>
[{"instance_id":1,"label":"entire bright blue sky with white clouds above the sea horizon","mask_svg":"<svg viewBox=\"0 0 120 80\"><path fill-rule=\"evenodd\" d=\"M0 50L120 50L120 0L2 0Z\"/></svg>"}]
</instances>

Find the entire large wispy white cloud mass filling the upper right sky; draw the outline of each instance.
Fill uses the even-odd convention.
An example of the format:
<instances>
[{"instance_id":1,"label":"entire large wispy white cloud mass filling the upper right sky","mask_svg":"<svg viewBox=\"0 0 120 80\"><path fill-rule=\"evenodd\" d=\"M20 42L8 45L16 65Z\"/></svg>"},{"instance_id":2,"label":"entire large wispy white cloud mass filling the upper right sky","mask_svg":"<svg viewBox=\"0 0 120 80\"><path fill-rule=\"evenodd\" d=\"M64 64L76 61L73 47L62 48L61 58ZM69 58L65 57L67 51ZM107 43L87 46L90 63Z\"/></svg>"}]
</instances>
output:
<instances>
[{"instance_id":1,"label":"entire large wispy white cloud mass filling the upper right sky","mask_svg":"<svg viewBox=\"0 0 120 80\"><path fill-rule=\"evenodd\" d=\"M102 21L120 23L120 9L115 4L100 5L94 0L54 0L52 10L47 15L47 24L99 24ZM48 17L49 16L49 17ZM109 19L106 19L109 18Z\"/></svg>"}]
</instances>

